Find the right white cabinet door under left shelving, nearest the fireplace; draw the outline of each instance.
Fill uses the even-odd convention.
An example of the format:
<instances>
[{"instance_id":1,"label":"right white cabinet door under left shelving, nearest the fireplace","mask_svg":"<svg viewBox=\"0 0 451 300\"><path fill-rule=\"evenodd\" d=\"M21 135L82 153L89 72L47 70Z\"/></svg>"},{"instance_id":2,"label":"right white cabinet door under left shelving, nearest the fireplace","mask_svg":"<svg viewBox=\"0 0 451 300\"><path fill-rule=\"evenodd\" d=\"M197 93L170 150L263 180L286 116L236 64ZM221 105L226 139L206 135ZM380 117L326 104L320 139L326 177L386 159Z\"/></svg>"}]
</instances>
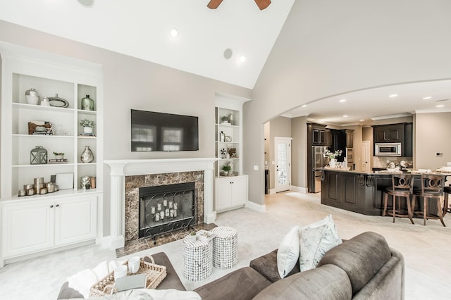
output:
<instances>
[{"instance_id":1,"label":"right white cabinet door under left shelving, nearest the fireplace","mask_svg":"<svg viewBox=\"0 0 451 300\"><path fill-rule=\"evenodd\" d=\"M86 241L96 235L96 196L78 196L58 201L55 210L56 246Z\"/></svg>"}]
</instances>

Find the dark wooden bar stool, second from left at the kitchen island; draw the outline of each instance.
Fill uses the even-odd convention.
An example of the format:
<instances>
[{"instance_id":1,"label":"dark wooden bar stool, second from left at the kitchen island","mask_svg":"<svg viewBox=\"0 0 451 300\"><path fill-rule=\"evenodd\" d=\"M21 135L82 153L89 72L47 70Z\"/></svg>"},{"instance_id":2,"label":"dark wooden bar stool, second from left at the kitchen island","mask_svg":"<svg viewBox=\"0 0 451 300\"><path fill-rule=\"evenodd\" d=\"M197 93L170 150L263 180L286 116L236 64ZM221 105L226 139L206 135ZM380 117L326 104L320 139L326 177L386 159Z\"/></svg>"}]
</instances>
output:
<instances>
[{"instance_id":1,"label":"dark wooden bar stool, second from left at the kitchen island","mask_svg":"<svg viewBox=\"0 0 451 300\"><path fill-rule=\"evenodd\" d=\"M440 203L440 196L443 194L443 184L445 182L445 176L421 174L421 189L414 190L414 196L412 197L412 212L415 215L423 215L423 224L426 225L426 219L440 219L443 226L446 227L443 222L443 209ZM415 211L416 196L423 197L423 210ZM431 215L429 212L428 199L435 199L437 204L437 215Z\"/></svg>"}]
</instances>

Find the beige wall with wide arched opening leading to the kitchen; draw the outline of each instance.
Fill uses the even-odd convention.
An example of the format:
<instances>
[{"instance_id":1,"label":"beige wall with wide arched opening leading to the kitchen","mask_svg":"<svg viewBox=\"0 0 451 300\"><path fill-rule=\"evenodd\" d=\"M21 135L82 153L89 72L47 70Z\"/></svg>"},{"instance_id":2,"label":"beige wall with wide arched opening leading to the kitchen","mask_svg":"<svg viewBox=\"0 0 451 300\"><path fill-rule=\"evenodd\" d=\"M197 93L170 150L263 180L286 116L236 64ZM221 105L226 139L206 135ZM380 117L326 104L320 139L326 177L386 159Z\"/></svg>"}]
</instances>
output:
<instances>
[{"instance_id":1,"label":"beige wall with wide arched opening leading to the kitchen","mask_svg":"<svg viewBox=\"0 0 451 300\"><path fill-rule=\"evenodd\" d=\"M249 199L264 204L253 165L263 166L263 124L275 115L354 89L450 78L450 11L448 0L295 1L245 104Z\"/></svg>"}]
</instances>

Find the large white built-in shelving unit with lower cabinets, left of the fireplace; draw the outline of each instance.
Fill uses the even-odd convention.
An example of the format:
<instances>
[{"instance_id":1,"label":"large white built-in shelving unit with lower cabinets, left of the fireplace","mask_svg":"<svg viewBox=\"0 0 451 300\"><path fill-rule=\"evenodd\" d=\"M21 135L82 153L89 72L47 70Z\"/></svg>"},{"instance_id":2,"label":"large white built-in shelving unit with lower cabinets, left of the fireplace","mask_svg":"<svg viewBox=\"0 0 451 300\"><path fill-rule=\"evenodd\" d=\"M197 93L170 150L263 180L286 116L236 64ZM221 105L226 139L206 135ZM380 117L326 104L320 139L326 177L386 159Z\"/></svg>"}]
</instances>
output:
<instances>
[{"instance_id":1,"label":"large white built-in shelving unit with lower cabinets, left of the fireplace","mask_svg":"<svg viewBox=\"0 0 451 300\"><path fill-rule=\"evenodd\" d=\"M101 65L2 42L0 42L0 55L2 63L0 265L2 265L4 258L30 254L63 244L83 242L101 235L103 88ZM41 100L44 96L47 98L57 96L67 101L68 105L63 104L67 107L58 107L28 104L25 92L30 88L37 91ZM81 99L88 94L94 99L94 111L81 109ZM83 119L95 122L94 136L81 136L83 127L80 125L80 120ZM53 125L51 134L30 134L28 123L33 121L49 122ZM42 146L47 150L48 163L30 163L30 151L36 146ZM91 163L83 163L80 159L85 146L89 146L94 154L94 161ZM66 161L50 163L49 160L56 158L54 152L63 152ZM73 185L69 184L70 187L67 189L48 194L18 195L18 191L24 189L24 185L32 185L37 177L44 177L44 182L50 182L52 175L63 173L73 175ZM82 176L95 177L97 188L82 189L80 187ZM30 204L33 205L29 206ZM31 211L27 211L27 206ZM57 208L59 211L56 210ZM32 219L33 222L37 222L38 231L21 232L23 230L20 229L22 227L19 226L18 220L8 215L14 211L24 215L35 215L32 209L40 210L39 213L35 211L37 217ZM50 213L51 211L54 213ZM65 224L63 230L68 230L63 233L65 235L63 240L45 243L42 240L39 241L41 234L45 239L49 239L49 232L58 234L61 228L57 228L57 223L61 224L62 221L56 222L56 219L49 218L54 218L54 215L55 218L59 218L61 213L66 221L78 220L78 222L63 222ZM77 215L77 218L72 218L71 213ZM86 218L80 219L82 215L86 215ZM42 222L39 223L39 220ZM28 220L20 220L20 222L27 223ZM87 225L83 225L83 222ZM50 224L50 231L47 225L39 228L39 224L44 223ZM72 226L78 227L81 231L70 230ZM36 237L30 239L34 241L32 244L24 244L18 240L26 240L27 232L30 232L30 236ZM43 232L47 234L44 235ZM15 248L16 246L18 248Z\"/></svg>"}]
</instances>

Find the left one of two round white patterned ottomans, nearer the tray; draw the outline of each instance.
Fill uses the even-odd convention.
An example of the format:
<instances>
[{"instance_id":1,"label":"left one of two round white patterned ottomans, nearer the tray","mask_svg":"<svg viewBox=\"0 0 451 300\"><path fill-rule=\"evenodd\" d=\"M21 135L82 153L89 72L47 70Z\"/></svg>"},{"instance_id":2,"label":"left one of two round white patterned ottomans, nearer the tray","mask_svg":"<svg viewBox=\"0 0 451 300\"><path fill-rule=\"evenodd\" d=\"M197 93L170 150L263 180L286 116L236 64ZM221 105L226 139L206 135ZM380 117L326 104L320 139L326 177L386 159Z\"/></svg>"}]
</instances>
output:
<instances>
[{"instance_id":1,"label":"left one of two round white patterned ottomans, nearer the tray","mask_svg":"<svg viewBox=\"0 0 451 300\"><path fill-rule=\"evenodd\" d=\"M183 277L190 281L204 280L213 272L213 242L183 238Z\"/></svg>"}]
</instances>

